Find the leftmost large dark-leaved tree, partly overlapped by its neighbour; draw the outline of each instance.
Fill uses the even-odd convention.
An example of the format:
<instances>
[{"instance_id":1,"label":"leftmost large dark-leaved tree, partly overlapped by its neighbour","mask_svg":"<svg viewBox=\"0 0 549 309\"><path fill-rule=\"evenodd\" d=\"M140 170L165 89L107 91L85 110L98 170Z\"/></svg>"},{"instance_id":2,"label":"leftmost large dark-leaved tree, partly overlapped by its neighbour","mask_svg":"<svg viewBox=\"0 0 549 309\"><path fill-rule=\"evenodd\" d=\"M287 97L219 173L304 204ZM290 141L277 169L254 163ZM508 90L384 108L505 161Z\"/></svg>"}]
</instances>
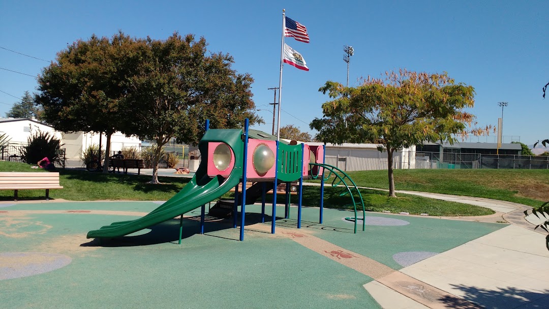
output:
<instances>
[{"instance_id":1,"label":"leftmost large dark-leaved tree, partly overlapped by its neighbour","mask_svg":"<svg viewBox=\"0 0 549 309\"><path fill-rule=\"evenodd\" d=\"M126 59L133 41L122 32L110 39L92 35L61 50L38 77L36 101L44 108L44 120L63 132L104 132L109 153L112 134L127 118L119 103L128 92L123 82L133 69L135 59Z\"/></svg>"}]
</instances>

